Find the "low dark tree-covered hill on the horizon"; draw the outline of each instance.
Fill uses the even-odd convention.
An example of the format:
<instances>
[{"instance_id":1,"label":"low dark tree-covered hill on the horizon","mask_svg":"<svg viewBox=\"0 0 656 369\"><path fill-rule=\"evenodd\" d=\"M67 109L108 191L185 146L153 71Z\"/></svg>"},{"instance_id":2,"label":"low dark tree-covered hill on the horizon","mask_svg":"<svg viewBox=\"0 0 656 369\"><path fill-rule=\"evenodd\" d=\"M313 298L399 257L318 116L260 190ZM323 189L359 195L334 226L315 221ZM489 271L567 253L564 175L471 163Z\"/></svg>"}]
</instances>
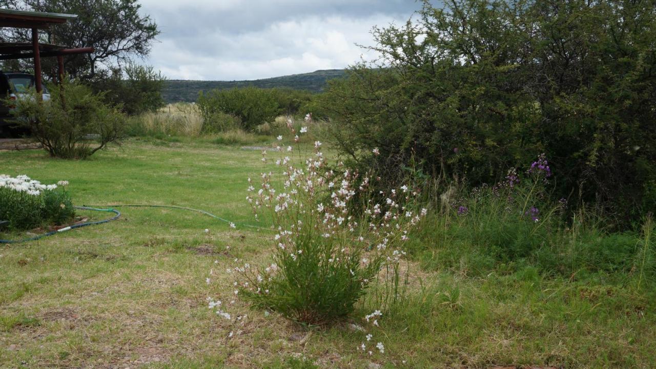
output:
<instances>
[{"instance_id":1,"label":"low dark tree-covered hill on the horizon","mask_svg":"<svg viewBox=\"0 0 656 369\"><path fill-rule=\"evenodd\" d=\"M199 91L230 89L232 87L287 87L290 89L321 92L326 85L326 81L343 77L345 72L343 69L318 70L312 73L255 79L253 81L189 81L171 79L165 82L162 95L166 102L192 102L198 98Z\"/></svg>"}]
</instances>

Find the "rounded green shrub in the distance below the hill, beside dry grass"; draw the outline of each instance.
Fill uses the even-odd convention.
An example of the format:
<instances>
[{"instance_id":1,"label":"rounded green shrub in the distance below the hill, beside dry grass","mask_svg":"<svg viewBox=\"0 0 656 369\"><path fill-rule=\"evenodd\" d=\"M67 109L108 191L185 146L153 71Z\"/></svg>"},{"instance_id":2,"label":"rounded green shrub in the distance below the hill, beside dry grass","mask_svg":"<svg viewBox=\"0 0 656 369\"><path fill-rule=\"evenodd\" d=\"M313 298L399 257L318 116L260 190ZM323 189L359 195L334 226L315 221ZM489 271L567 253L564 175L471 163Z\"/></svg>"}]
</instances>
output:
<instances>
[{"instance_id":1,"label":"rounded green shrub in the distance below the hill, beside dry grass","mask_svg":"<svg viewBox=\"0 0 656 369\"><path fill-rule=\"evenodd\" d=\"M197 104L208 127L214 127L213 122L221 117L222 113L241 119L241 129L247 131L253 131L258 125L272 121L279 111L274 93L256 87L201 92Z\"/></svg>"}]
</instances>

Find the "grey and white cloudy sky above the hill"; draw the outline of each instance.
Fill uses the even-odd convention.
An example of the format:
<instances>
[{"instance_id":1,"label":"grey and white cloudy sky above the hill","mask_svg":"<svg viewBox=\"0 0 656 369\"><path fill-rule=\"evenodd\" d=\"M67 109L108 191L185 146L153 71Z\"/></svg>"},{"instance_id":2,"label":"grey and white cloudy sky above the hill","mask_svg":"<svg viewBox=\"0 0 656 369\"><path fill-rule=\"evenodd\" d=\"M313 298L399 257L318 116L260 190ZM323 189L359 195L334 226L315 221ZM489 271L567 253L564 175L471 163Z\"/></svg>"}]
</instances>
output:
<instances>
[{"instance_id":1,"label":"grey and white cloudy sky above the hill","mask_svg":"<svg viewBox=\"0 0 656 369\"><path fill-rule=\"evenodd\" d=\"M169 79L241 80L345 68L375 25L415 0L140 0L161 34L146 62ZM365 58L373 55L365 54Z\"/></svg>"}]
</instances>

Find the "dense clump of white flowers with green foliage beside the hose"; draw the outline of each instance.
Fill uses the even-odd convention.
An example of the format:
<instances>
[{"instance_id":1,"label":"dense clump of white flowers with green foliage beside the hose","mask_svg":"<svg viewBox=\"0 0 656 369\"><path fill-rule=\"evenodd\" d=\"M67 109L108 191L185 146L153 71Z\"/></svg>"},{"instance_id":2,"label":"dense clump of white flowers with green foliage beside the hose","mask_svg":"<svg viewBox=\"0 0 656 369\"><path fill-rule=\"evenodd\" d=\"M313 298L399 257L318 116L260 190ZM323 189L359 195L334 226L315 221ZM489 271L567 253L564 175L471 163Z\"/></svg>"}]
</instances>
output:
<instances>
[{"instance_id":1,"label":"dense clump of white flowers with green foliage beside the hose","mask_svg":"<svg viewBox=\"0 0 656 369\"><path fill-rule=\"evenodd\" d=\"M45 223L60 224L74 215L67 181L43 185L26 175L0 175L0 220L20 230Z\"/></svg>"}]
</instances>

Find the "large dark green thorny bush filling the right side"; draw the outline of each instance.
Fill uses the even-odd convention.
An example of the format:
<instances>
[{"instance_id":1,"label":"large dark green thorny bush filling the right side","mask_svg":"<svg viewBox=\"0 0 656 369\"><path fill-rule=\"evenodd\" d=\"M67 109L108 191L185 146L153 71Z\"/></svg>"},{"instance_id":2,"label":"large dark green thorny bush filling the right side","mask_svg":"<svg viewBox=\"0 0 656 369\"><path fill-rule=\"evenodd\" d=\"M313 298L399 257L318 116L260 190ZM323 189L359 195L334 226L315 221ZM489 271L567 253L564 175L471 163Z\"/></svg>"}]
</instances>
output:
<instances>
[{"instance_id":1,"label":"large dark green thorny bush filling the right side","mask_svg":"<svg viewBox=\"0 0 656 369\"><path fill-rule=\"evenodd\" d=\"M319 98L352 164L377 162L398 183L415 160L481 185L545 152L554 198L599 201L623 220L656 208L653 2L444 4L375 28L380 68L354 66Z\"/></svg>"}]
</instances>

